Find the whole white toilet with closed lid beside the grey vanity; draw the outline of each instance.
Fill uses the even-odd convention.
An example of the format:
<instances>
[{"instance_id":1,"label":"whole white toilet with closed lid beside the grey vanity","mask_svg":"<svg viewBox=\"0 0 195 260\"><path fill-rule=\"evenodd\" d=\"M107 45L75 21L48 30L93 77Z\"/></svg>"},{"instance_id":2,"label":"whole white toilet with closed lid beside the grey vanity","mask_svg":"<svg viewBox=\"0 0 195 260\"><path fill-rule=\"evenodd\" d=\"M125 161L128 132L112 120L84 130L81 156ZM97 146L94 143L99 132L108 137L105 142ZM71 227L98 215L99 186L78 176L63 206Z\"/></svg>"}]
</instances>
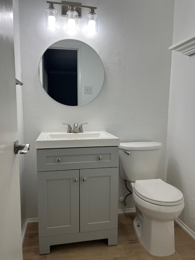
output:
<instances>
[{"instance_id":1,"label":"whole white toilet with closed lid beside the grey vanity","mask_svg":"<svg viewBox=\"0 0 195 260\"><path fill-rule=\"evenodd\" d=\"M183 194L176 187L155 179L162 144L120 143L120 173L129 180L137 216L133 227L148 253L168 256L175 252L174 219L184 208Z\"/></svg>"}]
</instances>

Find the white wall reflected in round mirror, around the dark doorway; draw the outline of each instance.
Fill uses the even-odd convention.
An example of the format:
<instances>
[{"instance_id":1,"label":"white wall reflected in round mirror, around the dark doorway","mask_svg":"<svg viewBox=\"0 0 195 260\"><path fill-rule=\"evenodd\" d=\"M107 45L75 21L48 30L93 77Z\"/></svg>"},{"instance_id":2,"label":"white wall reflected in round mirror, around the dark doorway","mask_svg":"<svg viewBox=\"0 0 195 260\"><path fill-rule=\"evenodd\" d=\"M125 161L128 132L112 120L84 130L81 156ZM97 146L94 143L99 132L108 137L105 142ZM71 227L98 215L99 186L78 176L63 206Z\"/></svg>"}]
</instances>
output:
<instances>
[{"instance_id":1,"label":"white wall reflected in round mirror, around the dark doorway","mask_svg":"<svg viewBox=\"0 0 195 260\"><path fill-rule=\"evenodd\" d=\"M69 48L67 46L71 46L71 48L74 48L74 46L78 46L78 44L81 48L81 62L80 65L78 64L78 67L81 66L80 74L82 75L81 88L79 90L80 100L78 105L83 105L96 97L100 91L100 86L102 86L104 81L104 67L99 55L86 43L76 40L58 41L50 47ZM80 68L78 68L78 70L80 70ZM91 95L84 94L84 86L93 86L93 92Z\"/></svg>"}]
</instances>

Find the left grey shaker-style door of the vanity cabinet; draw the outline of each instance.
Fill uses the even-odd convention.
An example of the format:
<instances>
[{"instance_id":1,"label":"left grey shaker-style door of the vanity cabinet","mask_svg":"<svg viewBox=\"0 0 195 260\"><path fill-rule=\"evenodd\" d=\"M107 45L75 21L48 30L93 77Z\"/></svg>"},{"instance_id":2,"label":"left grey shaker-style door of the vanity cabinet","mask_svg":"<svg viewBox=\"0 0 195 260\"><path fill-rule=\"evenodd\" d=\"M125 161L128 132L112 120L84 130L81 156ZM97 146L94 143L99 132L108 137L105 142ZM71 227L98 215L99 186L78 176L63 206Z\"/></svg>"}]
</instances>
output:
<instances>
[{"instance_id":1,"label":"left grey shaker-style door of the vanity cabinet","mask_svg":"<svg viewBox=\"0 0 195 260\"><path fill-rule=\"evenodd\" d=\"M39 237L79 232L79 170L38 172L38 214Z\"/></svg>"}]
</instances>

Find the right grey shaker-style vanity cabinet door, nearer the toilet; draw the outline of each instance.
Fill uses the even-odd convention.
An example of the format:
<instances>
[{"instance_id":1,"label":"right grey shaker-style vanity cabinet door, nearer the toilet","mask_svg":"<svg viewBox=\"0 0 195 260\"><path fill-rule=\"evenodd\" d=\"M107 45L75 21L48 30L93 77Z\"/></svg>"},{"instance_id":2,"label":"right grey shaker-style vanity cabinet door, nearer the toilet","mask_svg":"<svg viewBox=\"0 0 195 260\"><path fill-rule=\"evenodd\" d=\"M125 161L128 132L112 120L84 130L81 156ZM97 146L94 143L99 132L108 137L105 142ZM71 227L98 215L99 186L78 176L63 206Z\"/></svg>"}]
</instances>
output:
<instances>
[{"instance_id":1,"label":"right grey shaker-style vanity cabinet door, nearer the toilet","mask_svg":"<svg viewBox=\"0 0 195 260\"><path fill-rule=\"evenodd\" d=\"M117 228L118 175L118 168L80 170L80 232Z\"/></svg>"}]
</instances>

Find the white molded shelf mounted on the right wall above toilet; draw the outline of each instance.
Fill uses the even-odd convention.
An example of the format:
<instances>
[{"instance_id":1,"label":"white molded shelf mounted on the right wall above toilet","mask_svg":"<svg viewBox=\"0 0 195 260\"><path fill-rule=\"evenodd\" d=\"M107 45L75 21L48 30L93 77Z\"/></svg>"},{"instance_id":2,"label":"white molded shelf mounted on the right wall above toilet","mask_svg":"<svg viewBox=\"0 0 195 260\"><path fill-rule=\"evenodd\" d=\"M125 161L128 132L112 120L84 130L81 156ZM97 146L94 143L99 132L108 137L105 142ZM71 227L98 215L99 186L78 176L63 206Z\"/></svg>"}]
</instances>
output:
<instances>
[{"instance_id":1,"label":"white molded shelf mounted on the right wall above toilet","mask_svg":"<svg viewBox=\"0 0 195 260\"><path fill-rule=\"evenodd\" d=\"M175 50L176 52L181 52L184 55L191 55L195 53L195 36L188 37L185 40L172 45L168 49Z\"/></svg>"}]
</instances>

